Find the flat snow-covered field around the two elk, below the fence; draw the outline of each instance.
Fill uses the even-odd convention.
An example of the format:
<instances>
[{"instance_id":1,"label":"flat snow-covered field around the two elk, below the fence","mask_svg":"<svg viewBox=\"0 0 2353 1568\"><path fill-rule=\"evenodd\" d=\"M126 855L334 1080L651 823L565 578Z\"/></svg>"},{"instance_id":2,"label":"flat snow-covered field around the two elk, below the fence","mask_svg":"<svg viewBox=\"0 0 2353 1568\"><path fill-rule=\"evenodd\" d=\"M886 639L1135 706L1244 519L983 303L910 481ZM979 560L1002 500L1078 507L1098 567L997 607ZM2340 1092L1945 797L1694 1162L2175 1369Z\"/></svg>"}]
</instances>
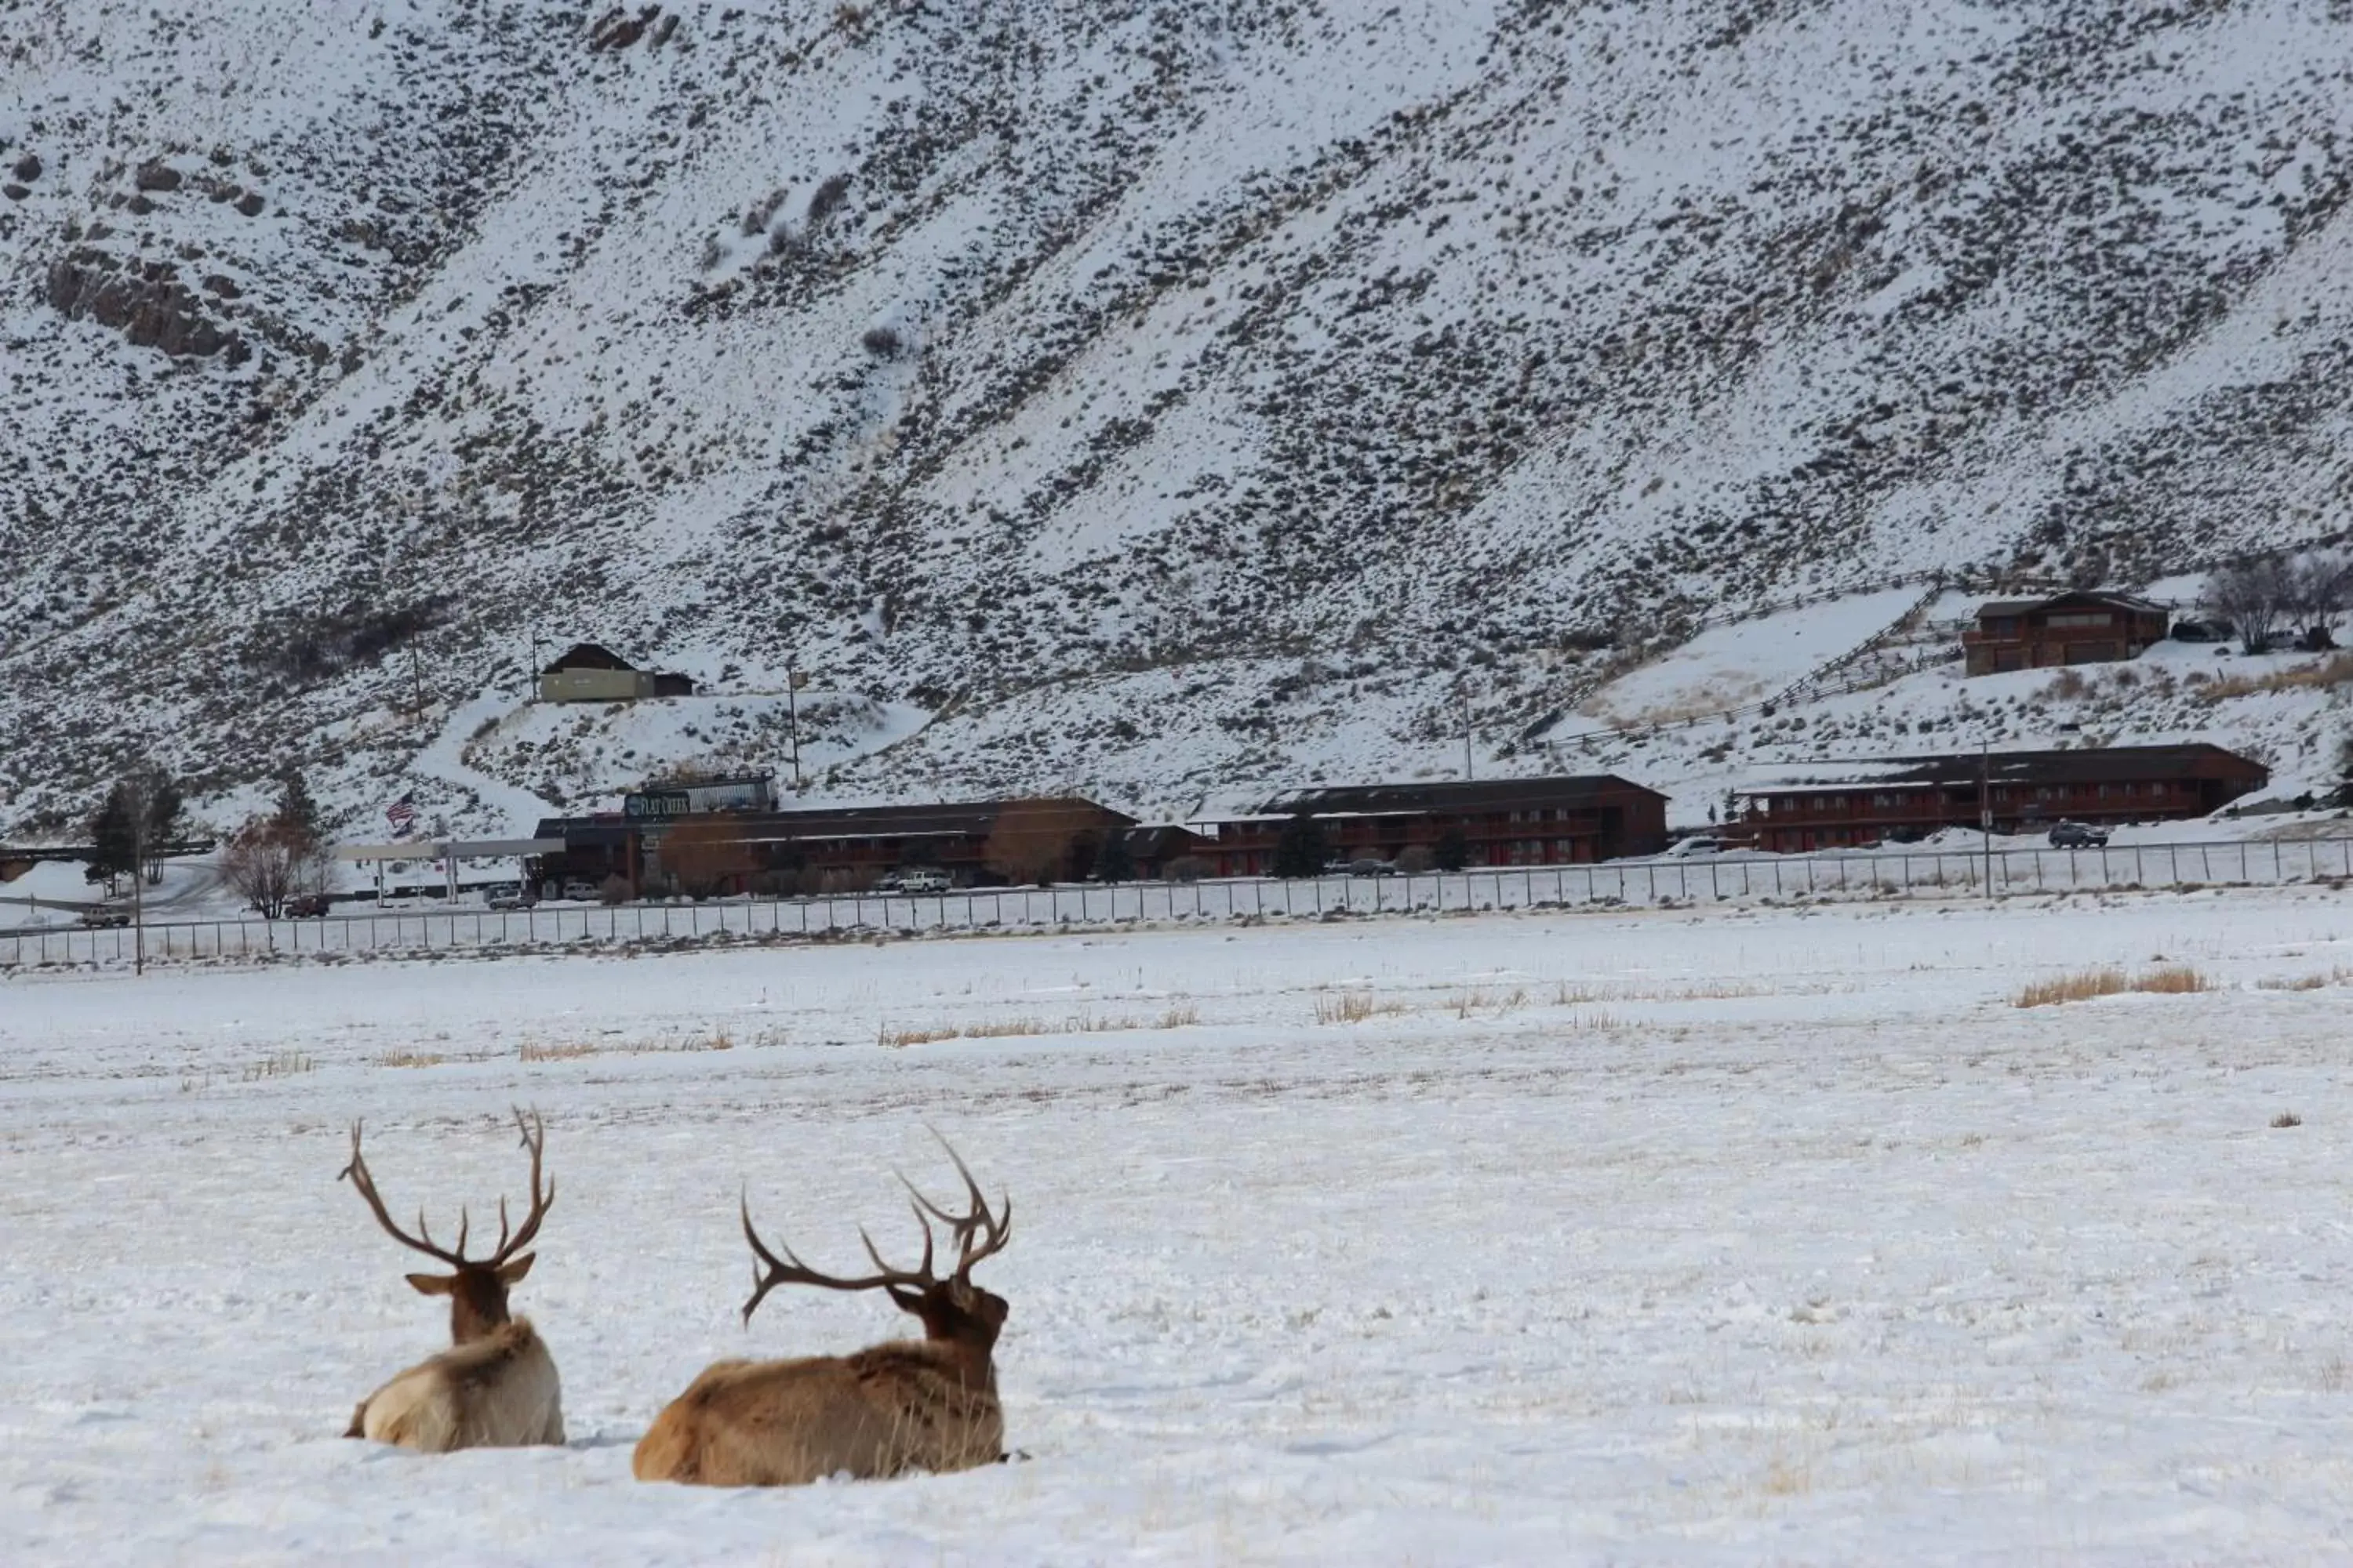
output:
<instances>
[{"instance_id":1,"label":"flat snow-covered field around the two elk, below the fence","mask_svg":"<svg viewBox=\"0 0 2353 1568\"><path fill-rule=\"evenodd\" d=\"M7 980L0 1559L2334 1559L2348 985L2327 891ZM480 1220L511 1103L572 1446L339 1439L445 1333L348 1121ZM1026 1458L635 1486L708 1359L901 1328L739 1326L734 1201L849 1265L925 1124Z\"/></svg>"}]
</instances>

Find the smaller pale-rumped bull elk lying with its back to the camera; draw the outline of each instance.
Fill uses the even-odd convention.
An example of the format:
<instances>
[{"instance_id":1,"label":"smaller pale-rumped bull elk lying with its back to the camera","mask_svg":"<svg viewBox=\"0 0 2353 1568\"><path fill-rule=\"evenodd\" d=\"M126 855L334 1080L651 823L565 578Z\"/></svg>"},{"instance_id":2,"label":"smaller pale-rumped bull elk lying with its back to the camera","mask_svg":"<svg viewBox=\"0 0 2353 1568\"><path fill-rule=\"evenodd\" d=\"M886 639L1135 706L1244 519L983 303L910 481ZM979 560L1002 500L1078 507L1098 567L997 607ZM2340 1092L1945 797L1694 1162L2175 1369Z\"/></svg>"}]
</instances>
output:
<instances>
[{"instance_id":1,"label":"smaller pale-rumped bull elk lying with its back to the camera","mask_svg":"<svg viewBox=\"0 0 2353 1568\"><path fill-rule=\"evenodd\" d=\"M409 1274L409 1286L424 1295L449 1298L452 1347L431 1361L419 1361L351 1413L344 1436L367 1436L424 1453L456 1448L518 1448L525 1443L562 1443L562 1392L555 1382L555 1356L548 1354L529 1319L506 1314L506 1293L532 1272L534 1253L522 1253L555 1201L555 1182L539 1185L539 1157L548 1133L534 1114L515 1112L522 1145L532 1152L532 1213L522 1229L508 1237L506 1199L499 1199L499 1246L489 1258L466 1258L466 1211L459 1211L456 1246L433 1244L424 1211L416 1211L416 1234L393 1225L376 1197L376 1180L360 1159L360 1124L351 1124L351 1164L344 1175L360 1190L376 1222L395 1241L447 1262L454 1274ZM341 1178L336 1178L341 1180ZM522 1253L520 1258L515 1253Z\"/></svg>"}]
</instances>

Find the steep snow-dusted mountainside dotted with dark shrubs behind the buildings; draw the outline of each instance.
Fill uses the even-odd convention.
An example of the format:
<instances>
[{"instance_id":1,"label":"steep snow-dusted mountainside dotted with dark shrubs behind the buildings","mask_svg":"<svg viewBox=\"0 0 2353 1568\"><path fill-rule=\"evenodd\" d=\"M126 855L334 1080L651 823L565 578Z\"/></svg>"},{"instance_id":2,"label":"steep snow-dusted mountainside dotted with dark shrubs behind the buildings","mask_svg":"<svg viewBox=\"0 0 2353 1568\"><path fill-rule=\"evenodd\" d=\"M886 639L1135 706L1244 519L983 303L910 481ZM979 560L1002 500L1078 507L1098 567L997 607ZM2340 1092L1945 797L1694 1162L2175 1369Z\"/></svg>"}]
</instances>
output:
<instances>
[{"instance_id":1,"label":"steep snow-dusted mountainside dotted with dark shrubs behind the buildings","mask_svg":"<svg viewBox=\"0 0 2353 1568\"><path fill-rule=\"evenodd\" d=\"M504 827L631 745L475 743L576 637L798 658L833 792L1181 806L1534 757L1798 595L2339 534L2348 45L2292 0L0 0L0 827L139 750Z\"/></svg>"}]
</instances>

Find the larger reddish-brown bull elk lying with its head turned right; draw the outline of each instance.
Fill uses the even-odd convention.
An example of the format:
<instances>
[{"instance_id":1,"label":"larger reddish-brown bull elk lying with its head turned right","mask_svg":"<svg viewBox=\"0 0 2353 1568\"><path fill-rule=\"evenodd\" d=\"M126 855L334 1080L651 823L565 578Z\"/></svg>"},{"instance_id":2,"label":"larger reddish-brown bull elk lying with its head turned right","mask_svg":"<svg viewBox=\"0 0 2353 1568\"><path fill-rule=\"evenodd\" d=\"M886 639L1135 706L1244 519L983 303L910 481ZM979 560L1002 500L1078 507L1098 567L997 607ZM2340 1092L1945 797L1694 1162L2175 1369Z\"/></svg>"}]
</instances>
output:
<instances>
[{"instance_id":1,"label":"larger reddish-brown bull elk lying with its head turned right","mask_svg":"<svg viewBox=\"0 0 2353 1568\"><path fill-rule=\"evenodd\" d=\"M941 1138L941 1147L946 1138ZM671 1401L638 1441L631 1460L640 1481L701 1486L800 1486L831 1474L861 1479L908 1469L969 1469L1005 1458L1005 1415L991 1354L1005 1328L1005 1298L972 1284L972 1265L1012 1239L1014 1206L988 1211L981 1185L948 1147L972 1199L948 1213L908 1182L922 1225L922 1262L894 1269L871 1237L875 1272L864 1279L819 1274L779 1248L767 1251L744 1204L744 1239L758 1258L744 1321L776 1286L887 1291L901 1312L922 1319L922 1340L892 1340L854 1356L795 1361L718 1361ZM901 1178L906 1180L906 1178ZM932 1274L932 1220L944 1220L958 1248L955 1272ZM765 1265L765 1269L760 1267Z\"/></svg>"}]
</instances>

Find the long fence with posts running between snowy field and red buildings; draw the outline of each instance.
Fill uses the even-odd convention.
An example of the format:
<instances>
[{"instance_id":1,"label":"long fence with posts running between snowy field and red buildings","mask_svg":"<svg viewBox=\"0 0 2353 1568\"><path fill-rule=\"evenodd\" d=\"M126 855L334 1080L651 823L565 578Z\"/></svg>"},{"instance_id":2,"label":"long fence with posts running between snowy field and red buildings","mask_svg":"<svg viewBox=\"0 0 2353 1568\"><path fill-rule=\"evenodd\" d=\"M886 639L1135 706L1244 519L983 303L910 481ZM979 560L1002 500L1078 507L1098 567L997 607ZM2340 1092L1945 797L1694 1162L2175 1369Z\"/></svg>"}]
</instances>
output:
<instances>
[{"instance_id":1,"label":"long fence with posts running between snowy field and red buildings","mask_svg":"<svg viewBox=\"0 0 2353 1568\"><path fill-rule=\"evenodd\" d=\"M1988 879L1991 877L1991 879ZM1602 860L1299 882L1127 882L1118 886L840 893L774 900L633 903L541 910L381 910L322 919L195 919L129 929L0 933L0 971L308 954L428 954L800 940L866 933L1064 931L1339 914L1659 907L1795 898L1934 898L2353 882L2353 837L2141 844L2118 849L1854 851Z\"/></svg>"}]
</instances>

